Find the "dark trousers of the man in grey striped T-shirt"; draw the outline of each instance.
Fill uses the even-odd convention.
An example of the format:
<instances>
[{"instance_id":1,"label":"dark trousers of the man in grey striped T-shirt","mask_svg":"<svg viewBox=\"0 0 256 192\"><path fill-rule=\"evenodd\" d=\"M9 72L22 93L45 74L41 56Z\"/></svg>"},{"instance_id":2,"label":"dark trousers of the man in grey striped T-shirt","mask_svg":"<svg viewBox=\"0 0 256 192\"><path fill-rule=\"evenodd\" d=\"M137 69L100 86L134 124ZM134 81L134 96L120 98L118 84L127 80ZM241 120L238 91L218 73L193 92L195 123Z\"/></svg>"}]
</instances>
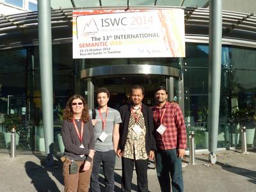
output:
<instances>
[{"instance_id":1,"label":"dark trousers of the man in grey striped T-shirt","mask_svg":"<svg viewBox=\"0 0 256 192\"><path fill-rule=\"evenodd\" d=\"M99 173L101 163L105 180L105 191L113 192L115 188L114 171L116 163L116 153L114 150L109 150L107 152L95 151L93 157L90 191L100 192Z\"/></svg>"}]
</instances>

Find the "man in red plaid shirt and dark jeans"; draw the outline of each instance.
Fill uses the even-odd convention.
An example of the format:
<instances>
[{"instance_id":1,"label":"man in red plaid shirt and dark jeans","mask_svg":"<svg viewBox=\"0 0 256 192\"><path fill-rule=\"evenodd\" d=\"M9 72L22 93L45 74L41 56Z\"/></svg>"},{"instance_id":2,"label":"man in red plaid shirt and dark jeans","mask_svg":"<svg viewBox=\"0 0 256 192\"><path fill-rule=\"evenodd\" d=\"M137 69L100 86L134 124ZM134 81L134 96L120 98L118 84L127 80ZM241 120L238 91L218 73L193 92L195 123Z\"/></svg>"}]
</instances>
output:
<instances>
[{"instance_id":1,"label":"man in red plaid shirt and dark jeans","mask_svg":"<svg viewBox=\"0 0 256 192\"><path fill-rule=\"evenodd\" d=\"M183 191L182 162L187 136L186 126L179 104L167 102L168 92L163 86L156 88L154 127L156 137L156 171L161 191Z\"/></svg>"}]
</instances>

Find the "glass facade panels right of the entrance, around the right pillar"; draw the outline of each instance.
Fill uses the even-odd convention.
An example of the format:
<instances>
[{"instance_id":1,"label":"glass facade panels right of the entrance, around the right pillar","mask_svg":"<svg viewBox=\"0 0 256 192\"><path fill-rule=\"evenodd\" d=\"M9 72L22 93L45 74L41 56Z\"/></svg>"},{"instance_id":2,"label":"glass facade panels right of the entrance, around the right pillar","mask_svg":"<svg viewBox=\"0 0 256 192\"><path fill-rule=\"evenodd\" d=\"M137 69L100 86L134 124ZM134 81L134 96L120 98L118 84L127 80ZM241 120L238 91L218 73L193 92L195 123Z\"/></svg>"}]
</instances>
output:
<instances>
[{"instance_id":1,"label":"glass facade panels right of the entrance, around the right pillar","mask_svg":"<svg viewBox=\"0 0 256 192\"><path fill-rule=\"evenodd\" d=\"M195 131L198 148L208 146L208 45L187 44L184 58L184 102L188 131ZM240 145L241 126L247 143L255 143L256 50L223 45L218 147ZM250 141L249 141L250 140ZM205 143L204 143L205 142Z\"/></svg>"}]
</instances>

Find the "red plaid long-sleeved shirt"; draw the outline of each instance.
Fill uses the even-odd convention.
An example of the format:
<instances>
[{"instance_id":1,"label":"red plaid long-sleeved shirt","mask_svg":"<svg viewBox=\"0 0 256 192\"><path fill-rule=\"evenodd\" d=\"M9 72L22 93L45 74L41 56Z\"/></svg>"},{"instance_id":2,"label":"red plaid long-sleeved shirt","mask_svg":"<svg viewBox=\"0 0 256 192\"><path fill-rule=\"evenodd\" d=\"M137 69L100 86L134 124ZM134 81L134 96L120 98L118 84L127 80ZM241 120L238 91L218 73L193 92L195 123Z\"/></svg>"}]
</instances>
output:
<instances>
[{"instance_id":1,"label":"red plaid long-sleeved shirt","mask_svg":"<svg viewBox=\"0 0 256 192\"><path fill-rule=\"evenodd\" d=\"M160 119L163 115L164 108L166 108L166 110L164 112L162 124L166 127L166 130L161 135L156 131L156 129L161 125ZM157 148L160 150L186 148L186 125L179 105L166 102L166 104L160 109L154 106L152 111L154 113Z\"/></svg>"}]
</instances>

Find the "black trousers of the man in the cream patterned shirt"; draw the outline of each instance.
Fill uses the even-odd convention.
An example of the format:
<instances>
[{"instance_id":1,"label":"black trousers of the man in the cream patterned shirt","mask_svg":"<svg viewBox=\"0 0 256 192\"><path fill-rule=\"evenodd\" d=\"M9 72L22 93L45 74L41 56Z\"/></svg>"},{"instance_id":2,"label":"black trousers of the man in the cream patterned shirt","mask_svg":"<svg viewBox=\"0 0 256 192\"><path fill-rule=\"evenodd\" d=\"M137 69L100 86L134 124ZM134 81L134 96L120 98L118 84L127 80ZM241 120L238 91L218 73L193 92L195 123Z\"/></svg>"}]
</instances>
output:
<instances>
[{"instance_id":1,"label":"black trousers of the man in the cream patterned shirt","mask_svg":"<svg viewBox=\"0 0 256 192\"><path fill-rule=\"evenodd\" d=\"M138 191L148 192L148 159L134 160L122 157L122 191L131 191L133 168L136 168Z\"/></svg>"}]
</instances>

